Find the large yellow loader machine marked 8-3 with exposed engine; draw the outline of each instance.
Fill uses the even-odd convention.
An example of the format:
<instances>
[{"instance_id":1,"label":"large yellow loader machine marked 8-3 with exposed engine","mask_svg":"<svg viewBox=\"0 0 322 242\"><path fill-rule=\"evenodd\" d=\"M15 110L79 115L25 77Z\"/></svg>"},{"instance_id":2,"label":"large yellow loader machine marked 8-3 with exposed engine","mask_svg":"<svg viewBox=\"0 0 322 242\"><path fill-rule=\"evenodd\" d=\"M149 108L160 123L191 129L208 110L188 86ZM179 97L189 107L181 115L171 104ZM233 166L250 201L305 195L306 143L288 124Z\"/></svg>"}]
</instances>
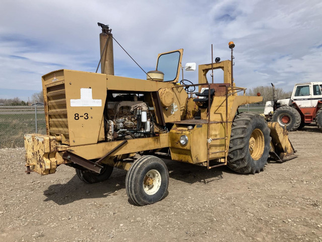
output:
<instances>
[{"instance_id":1,"label":"large yellow loader machine marked 8-3 with exposed engine","mask_svg":"<svg viewBox=\"0 0 322 242\"><path fill-rule=\"evenodd\" d=\"M180 79L183 49L161 53L147 79L114 76L113 35L102 27L102 74L58 70L42 77L46 135L26 134L27 173L51 174L65 164L85 183L106 180L114 167L127 170L126 192L136 205L163 199L169 159L222 165L238 173L264 169L269 157L295 157L286 129L238 107L262 101L236 87L231 60L199 65L199 82ZM115 40L115 39L114 39ZM209 71L221 69L223 82ZM197 90L193 90L196 89ZM242 95L238 95L241 93Z\"/></svg>"}]
</instances>

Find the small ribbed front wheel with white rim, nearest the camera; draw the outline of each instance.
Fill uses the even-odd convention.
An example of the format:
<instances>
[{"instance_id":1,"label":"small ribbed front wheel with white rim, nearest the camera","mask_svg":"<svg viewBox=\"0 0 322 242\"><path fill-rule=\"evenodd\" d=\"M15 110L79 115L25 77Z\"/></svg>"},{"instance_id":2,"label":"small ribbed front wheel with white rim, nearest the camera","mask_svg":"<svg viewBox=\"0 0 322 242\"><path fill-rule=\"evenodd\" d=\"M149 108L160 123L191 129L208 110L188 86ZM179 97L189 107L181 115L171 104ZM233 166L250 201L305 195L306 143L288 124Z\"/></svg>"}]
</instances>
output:
<instances>
[{"instance_id":1,"label":"small ribbed front wheel with white rim, nearest the camera","mask_svg":"<svg viewBox=\"0 0 322 242\"><path fill-rule=\"evenodd\" d=\"M168 186L168 168L161 159L153 155L145 155L134 161L126 174L127 196L138 206L162 200L166 196Z\"/></svg>"}]
</instances>

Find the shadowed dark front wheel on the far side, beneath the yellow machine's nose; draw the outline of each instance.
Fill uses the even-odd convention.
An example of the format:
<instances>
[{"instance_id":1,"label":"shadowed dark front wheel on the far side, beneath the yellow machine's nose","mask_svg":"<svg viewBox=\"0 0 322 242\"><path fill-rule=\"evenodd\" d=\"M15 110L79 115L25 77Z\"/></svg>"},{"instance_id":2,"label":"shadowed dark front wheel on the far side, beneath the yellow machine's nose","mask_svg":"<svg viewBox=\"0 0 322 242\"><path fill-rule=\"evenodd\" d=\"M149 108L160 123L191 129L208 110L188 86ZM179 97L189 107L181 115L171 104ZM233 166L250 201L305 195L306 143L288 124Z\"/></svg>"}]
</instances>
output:
<instances>
[{"instance_id":1,"label":"shadowed dark front wheel on the far side, beneath the yellow machine's nose","mask_svg":"<svg viewBox=\"0 0 322 242\"><path fill-rule=\"evenodd\" d=\"M113 166L102 164L103 168L101 170L101 173L98 174L94 171L87 170L87 169L77 169L76 168L76 174L85 183L99 183L100 181L107 180L113 171Z\"/></svg>"}]
</instances>

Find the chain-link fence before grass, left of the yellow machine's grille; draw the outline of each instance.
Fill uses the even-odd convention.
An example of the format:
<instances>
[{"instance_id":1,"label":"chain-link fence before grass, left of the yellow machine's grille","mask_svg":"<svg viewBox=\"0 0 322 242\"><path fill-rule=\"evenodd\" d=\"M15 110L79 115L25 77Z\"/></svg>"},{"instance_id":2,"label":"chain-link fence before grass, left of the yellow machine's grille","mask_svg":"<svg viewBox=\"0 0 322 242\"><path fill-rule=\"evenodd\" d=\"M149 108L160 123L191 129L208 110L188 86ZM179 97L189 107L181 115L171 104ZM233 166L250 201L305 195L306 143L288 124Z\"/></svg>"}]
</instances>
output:
<instances>
[{"instance_id":1,"label":"chain-link fence before grass, left of the yellow machine's grille","mask_svg":"<svg viewBox=\"0 0 322 242\"><path fill-rule=\"evenodd\" d=\"M0 149L24 147L28 133L46 134L43 105L0 106Z\"/></svg>"}]
</instances>

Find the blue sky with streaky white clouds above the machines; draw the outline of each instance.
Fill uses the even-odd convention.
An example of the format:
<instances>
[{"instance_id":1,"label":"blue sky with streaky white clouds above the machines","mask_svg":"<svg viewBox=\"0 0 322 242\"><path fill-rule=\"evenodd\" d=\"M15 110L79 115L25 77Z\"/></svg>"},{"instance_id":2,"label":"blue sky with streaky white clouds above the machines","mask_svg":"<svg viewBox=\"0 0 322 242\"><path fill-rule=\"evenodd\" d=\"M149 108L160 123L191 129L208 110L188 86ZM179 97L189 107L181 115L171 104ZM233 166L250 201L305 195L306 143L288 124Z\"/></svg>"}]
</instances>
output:
<instances>
[{"instance_id":1,"label":"blue sky with streaky white clouds above the machines","mask_svg":"<svg viewBox=\"0 0 322 242\"><path fill-rule=\"evenodd\" d=\"M8 1L0 9L0 98L28 100L41 90L41 76L58 69L95 72L97 22L145 71L160 52L184 48L183 65L230 58L234 80L252 88L321 80L321 1ZM115 75L145 74L114 43ZM216 77L216 76L215 76ZM198 82L197 71L185 78Z\"/></svg>"}]
</instances>

